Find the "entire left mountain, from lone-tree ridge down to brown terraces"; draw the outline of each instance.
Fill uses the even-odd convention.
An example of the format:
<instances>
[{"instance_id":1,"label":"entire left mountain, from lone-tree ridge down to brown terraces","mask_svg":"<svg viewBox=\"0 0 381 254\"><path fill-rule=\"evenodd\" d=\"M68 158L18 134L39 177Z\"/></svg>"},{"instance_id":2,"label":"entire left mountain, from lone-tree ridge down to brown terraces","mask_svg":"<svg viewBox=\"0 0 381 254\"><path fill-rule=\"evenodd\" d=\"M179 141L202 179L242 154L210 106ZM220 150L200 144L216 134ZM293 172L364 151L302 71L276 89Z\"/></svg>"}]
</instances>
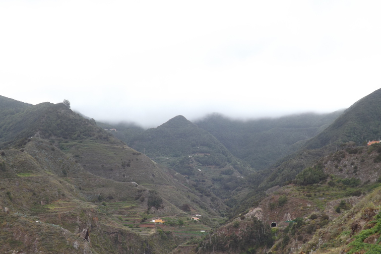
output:
<instances>
[{"instance_id":1,"label":"entire left mountain, from lone-tree ridge down to brown terraces","mask_svg":"<svg viewBox=\"0 0 381 254\"><path fill-rule=\"evenodd\" d=\"M0 105L1 252L169 253L221 223L219 198L93 119L62 103Z\"/></svg>"}]
</instances>

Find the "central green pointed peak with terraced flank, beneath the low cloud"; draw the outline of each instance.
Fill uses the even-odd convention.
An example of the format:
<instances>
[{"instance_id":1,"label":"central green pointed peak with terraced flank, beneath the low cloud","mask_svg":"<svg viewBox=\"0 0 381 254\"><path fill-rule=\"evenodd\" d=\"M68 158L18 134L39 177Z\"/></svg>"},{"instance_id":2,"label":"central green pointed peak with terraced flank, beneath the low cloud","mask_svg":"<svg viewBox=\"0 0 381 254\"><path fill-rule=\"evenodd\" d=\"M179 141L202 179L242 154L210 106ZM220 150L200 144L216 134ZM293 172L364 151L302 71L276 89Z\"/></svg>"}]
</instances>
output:
<instances>
[{"instance_id":1,"label":"central green pointed peak with terraced flank, beneath the low cloud","mask_svg":"<svg viewBox=\"0 0 381 254\"><path fill-rule=\"evenodd\" d=\"M159 165L185 175L184 184L210 198L222 214L227 209L215 202L221 198L232 206L236 199L232 196L235 188L231 185L236 185L238 179L253 172L249 164L235 158L213 135L183 116L137 135L130 129L111 133L124 136L122 140L129 140L128 145L145 153ZM245 191L240 195L244 195Z\"/></svg>"}]
</instances>

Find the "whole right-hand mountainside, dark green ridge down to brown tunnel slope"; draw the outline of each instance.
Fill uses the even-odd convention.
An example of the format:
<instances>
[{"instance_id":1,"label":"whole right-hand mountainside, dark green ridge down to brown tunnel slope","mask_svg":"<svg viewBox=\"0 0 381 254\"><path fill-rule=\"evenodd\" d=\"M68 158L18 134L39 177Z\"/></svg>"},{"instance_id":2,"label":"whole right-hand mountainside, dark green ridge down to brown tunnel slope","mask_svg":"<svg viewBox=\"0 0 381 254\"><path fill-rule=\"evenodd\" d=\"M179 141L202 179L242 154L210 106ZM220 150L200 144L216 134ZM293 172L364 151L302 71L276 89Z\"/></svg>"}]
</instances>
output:
<instances>
[{"instance_id":1,"label":"whole right-hand mountainside, dark green ridge down to brown tunnel slope","mask_svg":"<svg viewBox=\"0 0 381 254\"><path fill-rule=\"evenodd\" d=\"M174 253L381 253L381 145L363 140L378 136L380 95L377 90L356 102L264 170L269 176L227 224ZM248 178L258 178L253 175Z\"/></svg>"}]
</instances>

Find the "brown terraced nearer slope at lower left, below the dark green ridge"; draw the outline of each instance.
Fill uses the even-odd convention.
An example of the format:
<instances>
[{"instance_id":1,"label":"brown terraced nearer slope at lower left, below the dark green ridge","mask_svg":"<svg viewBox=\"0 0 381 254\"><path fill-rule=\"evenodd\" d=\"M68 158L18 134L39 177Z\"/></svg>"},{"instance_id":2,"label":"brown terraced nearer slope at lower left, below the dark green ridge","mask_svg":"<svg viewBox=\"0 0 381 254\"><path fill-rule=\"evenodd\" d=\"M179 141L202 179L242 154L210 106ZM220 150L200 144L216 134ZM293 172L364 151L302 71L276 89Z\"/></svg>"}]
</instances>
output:
<instances>
[{"instance_id":1,"label":"brown terraced nearer slope at lower left, below the dark green ridge","mask_svg":"<svg viewBox=\"0 0 381 254\"><path fill-rule=\"evenodd\" d=\"M128 227L146 209L134 195L147 189L91 175L46 140L2 150L0 164L1 253L165 253L176 246L155 240L155 227L144 230L149 238Z\"/></svg>"}]
</instances>

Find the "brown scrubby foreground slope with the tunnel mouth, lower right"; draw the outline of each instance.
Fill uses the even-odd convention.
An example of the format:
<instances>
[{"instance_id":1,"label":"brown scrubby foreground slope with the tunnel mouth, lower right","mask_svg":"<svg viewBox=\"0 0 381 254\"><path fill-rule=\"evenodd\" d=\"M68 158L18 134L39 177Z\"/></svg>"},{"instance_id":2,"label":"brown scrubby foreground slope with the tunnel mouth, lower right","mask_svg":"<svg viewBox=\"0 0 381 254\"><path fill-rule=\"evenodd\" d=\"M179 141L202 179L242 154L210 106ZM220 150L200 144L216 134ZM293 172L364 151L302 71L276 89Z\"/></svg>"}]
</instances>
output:
<instances>
[{"instance_id":1,"label":"brown scrubby foreground slope with the tunnel mouth, lower right","mask_svg":"<svg viewBox=\"0 0 381 254\"><path fill-rule=\"evenodd\" d=\"M322 157L187 253L379 253L380 158L380 144Z\"/></svg>"}]
</instances>

